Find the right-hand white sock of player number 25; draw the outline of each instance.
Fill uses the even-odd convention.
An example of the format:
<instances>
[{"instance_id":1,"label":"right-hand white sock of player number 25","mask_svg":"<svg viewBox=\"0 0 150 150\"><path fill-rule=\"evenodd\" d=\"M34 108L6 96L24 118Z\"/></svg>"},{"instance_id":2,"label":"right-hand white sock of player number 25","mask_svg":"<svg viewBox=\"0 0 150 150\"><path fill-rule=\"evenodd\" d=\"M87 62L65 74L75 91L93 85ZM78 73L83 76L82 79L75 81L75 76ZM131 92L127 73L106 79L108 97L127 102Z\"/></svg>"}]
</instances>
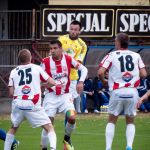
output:
<instances>
[{"instance_id":1,"label":"right-hand white sock of player number 25","mask_svg":"<svg viewBox=\"0 0 150 150\"><path fill-rule=\"evenodd\" d=\"M57 138L56 138L56 134L54 131L51 131L48 133L48 139L49 139L49 143L50 143L50 149L51 150L56 150L56 143L57 143Z\"/></svg>"}]
</instances>

